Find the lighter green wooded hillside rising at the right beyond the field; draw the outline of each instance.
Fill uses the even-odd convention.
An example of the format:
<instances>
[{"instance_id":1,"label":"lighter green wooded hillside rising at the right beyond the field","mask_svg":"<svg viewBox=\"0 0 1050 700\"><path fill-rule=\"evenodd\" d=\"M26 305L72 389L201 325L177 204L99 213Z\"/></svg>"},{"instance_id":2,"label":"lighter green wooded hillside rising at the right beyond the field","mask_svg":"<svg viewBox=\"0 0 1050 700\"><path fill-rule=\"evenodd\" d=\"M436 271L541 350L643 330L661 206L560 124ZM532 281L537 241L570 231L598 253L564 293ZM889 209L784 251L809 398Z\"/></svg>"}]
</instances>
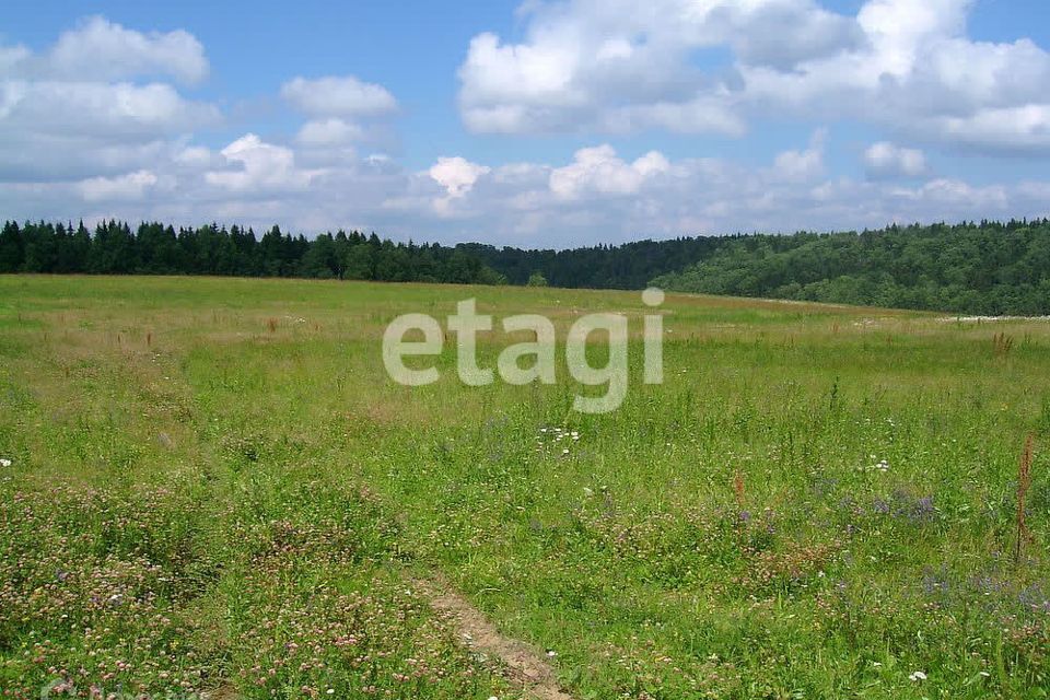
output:
<instances>
[{"instance_id":1,"label":"lighter green wooded hillside rising at the right beyond the field","mask_svg":"<svg viewBox=\"0 0 1050 700\"><path fill-rule=\"evenodd\" d=\"M1050 314L1050 221L864 233L754 235L653 279L668 290L928 308Z\"/></svg>"}]
</instances>

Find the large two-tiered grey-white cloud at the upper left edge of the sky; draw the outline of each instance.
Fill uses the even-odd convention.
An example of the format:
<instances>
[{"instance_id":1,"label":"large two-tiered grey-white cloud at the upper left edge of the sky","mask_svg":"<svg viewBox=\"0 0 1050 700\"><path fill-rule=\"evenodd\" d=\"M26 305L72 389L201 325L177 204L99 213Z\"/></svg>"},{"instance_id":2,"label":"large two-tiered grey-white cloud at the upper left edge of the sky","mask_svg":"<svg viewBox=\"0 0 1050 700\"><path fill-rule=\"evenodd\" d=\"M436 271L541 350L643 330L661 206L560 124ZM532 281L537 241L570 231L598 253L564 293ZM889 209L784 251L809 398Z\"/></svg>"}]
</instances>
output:
<instances>
[{"instance_id":1,"label":"large two-tiered grey-white cloud at the upper left edge of the sky","mask_svg":"<svg viewBox=\"0 0 1050 700\"><path fill-rule=\"evenodd\" d=\"M0 47L0 180L150 168L184 135L221 120L213 105L158 79L192 83L207 73L203 48L186 32L141 33L102 18L36 54Z\"/></svg>"}]
</instances>

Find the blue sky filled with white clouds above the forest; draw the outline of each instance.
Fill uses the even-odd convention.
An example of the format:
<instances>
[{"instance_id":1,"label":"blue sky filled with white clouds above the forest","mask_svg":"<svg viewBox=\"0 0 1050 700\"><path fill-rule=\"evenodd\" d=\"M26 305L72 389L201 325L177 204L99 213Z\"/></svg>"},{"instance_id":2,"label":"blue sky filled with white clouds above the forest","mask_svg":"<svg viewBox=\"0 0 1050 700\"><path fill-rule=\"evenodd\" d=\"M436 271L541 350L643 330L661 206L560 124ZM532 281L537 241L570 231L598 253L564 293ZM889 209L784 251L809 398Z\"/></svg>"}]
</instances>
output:
<instances>
[{"instance_id":1,"label":"blue sky filled with white clouds above the forest","mask_svg":"<svg viewBox=\"0 0 1050 700\"><path fill-rule=\"evenodd\" d=\"M1045 0L8 0L0 219L520 247L1050 215Z\"/></svg>"}]
</instances>

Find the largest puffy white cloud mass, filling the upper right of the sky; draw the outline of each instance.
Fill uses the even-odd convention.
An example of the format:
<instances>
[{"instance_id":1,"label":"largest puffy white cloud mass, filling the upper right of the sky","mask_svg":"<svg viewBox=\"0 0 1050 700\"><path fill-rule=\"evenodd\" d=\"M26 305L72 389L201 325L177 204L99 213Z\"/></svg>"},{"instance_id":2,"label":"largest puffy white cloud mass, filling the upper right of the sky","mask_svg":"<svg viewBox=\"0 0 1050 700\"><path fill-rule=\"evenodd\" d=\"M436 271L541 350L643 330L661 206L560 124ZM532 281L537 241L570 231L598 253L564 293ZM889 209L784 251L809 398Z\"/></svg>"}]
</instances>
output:
<instances>
[{"instance_id":1,"label":"largest puffy white cloud mass, filling the upper right of the sky","mask_svg":"<svg viewBox=\"0 0 1050 700\"><path fill-rule=\"evenodd\" d=\"M856 118L989 151L1050 149L1050 54L966 36L972 0L570 0L529 5L525 36L476 36L459 68L479 132L738 136L770 109ZM724 49L721 65L698 52Z\"/></svg>"}]
</instances>

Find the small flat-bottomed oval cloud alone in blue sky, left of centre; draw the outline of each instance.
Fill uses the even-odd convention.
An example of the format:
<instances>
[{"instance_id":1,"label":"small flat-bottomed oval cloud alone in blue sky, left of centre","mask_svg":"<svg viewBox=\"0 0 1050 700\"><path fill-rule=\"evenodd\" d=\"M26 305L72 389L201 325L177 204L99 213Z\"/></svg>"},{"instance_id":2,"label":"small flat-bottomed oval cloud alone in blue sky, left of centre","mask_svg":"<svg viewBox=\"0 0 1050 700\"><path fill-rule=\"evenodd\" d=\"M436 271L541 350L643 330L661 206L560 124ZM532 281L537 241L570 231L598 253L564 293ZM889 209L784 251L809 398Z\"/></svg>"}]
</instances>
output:
<instances>
[{"instance_id":1,"label":"small flat-bottomed oval cloud alone in blue sky, left of centre","mask_svg":"<svg viewBox=\"0 0 1050 700\"><path fill-rule=\"evenodd\" d=\"M313 117L376 116L397 108L397 101L385 88L353 75L295 78L284 83L281 96Z\"/></svg>"}]
</instances>

